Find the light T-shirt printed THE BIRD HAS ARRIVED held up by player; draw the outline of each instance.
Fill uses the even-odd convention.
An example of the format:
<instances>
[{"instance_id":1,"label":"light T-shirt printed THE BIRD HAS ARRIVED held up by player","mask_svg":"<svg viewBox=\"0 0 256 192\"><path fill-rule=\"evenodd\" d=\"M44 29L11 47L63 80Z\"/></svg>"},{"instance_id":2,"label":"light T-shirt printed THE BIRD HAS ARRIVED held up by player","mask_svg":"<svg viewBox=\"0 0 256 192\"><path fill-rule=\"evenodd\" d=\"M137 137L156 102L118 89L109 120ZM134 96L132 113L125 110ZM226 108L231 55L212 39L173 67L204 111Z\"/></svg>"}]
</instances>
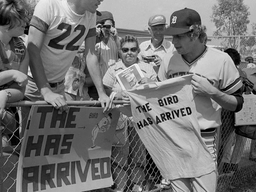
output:
<instances>
[{"instance_id":1,"label":"light T-shirt printed THE BIRD HAS ARRIVED held up by player","mask_svg":"<svg viewBox=\"0 0 256 192\"><path fill-rule=\"evenodd\" d=\"M126 91L136 131L165 179L199 177L215 170L193 107L192 76Z\"/></svg>"}]
</instances>

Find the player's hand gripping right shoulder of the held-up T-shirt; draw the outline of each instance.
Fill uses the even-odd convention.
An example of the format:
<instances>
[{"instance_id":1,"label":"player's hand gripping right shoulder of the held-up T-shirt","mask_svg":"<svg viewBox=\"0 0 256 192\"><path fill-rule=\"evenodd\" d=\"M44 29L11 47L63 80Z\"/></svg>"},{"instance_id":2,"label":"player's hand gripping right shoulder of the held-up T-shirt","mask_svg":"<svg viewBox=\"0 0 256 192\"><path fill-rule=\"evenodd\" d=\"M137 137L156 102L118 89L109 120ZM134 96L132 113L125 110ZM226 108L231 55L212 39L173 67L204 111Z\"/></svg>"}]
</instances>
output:
<instances>
[{"instance_id":1,"label":"player's hand gripping right shoulder of the held-up T-shirt","mask_svg":"<svg viewBox=\"0 0 256 192\"><path fill-rule=\"evenodd\" d=\"M216 89L206 78L198 75L192 76L191 85L196 94L204 96L213 94Z\"/></svg>"}]
</instances>

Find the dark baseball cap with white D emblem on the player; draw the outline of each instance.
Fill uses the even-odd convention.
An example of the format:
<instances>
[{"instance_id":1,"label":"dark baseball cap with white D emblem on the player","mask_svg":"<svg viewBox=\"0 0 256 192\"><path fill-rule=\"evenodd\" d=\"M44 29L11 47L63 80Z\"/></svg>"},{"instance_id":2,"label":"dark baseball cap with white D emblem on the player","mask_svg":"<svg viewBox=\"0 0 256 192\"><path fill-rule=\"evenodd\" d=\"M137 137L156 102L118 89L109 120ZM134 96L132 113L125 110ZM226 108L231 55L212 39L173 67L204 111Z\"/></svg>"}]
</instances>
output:
<instances>
[{"instance_id":1,"label":"dark baseball cap with white D emblem on the player","mask_svg":"<svg viewBox=\"0 0 256 192\"><path fill-rule=\"evenodd\" d=\"M193 9L184 8L172 13L170 27L163 31L164 35L178 35L186 33L193 24L201 25L201 17Z\"/></svg>"}]
</instances>

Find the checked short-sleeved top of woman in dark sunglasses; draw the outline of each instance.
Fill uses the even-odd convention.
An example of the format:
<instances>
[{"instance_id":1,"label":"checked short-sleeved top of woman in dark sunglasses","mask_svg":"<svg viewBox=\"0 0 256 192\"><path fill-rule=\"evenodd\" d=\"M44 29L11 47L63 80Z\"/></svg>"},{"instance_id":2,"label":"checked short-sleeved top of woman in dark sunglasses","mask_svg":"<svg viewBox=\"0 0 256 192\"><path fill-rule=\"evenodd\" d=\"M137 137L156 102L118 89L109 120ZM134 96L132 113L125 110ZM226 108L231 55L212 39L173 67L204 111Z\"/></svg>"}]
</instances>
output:
<instances>
[{"instance_id":1,"label":"checked short-sleeved top of woman in dark sunglasses","mask_svg":"<svg viewBox=\"0 0 256 192\"><path fill-rule=\"evenodd\" d=\"M138 63L140 70L145 77L155 81L157 75L152 66L148 65L148 63L140 61L138 58L136 63ZM119 60L117 63L110 66L103 77L103 84L112 88L112 91L114 92L123 91L120 84L117 82L116 73L122 71L125 68L127 67L124 65L122 60Z\"/></svg>"}]
</instances>

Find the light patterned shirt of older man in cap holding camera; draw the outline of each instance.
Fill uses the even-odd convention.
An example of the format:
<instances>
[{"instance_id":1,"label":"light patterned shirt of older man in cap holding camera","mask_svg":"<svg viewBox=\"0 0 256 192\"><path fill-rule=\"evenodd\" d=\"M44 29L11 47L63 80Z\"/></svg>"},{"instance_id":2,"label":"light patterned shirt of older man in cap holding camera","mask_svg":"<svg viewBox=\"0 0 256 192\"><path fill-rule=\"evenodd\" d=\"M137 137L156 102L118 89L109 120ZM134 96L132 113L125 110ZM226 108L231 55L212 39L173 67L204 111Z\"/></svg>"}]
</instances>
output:
<instances>
[{"instance_id":1,"label":"light patterned shirt of older man in cap holding camera","mask_svg":"<svg viewBox=\"0 0 256 192\"><path fill-rule=\"evenodd\" d=\"M168 52L176 51L171 41L163 40L162 44L155 48L151 43L151 39L148 41L144 41L140 44L140 53L138 54L138 58L142 60L142 56L157 54L162 60L164 55ZM155 65L154 62L150 62L150 64Z\"/></svg>"}]
</instances>

